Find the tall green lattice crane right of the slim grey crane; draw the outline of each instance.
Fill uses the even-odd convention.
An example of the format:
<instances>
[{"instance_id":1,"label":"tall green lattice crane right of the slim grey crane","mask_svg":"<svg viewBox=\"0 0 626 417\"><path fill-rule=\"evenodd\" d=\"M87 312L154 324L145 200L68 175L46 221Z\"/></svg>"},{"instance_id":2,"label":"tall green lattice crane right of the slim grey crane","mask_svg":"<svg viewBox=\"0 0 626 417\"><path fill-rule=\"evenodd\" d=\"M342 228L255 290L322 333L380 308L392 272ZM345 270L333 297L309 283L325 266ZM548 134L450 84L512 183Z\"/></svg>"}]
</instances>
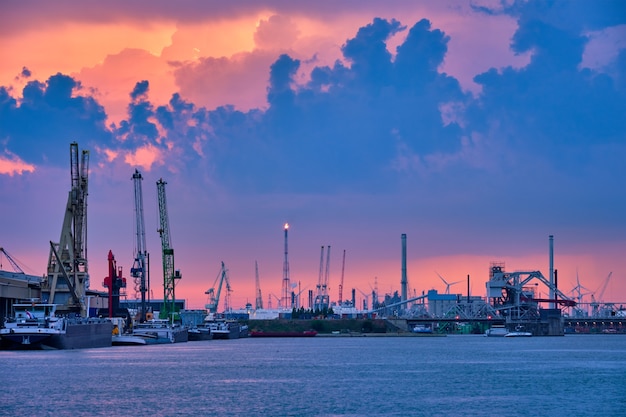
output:
<instances>
[{"instance_id":1,"label":"tall green lattice crane right of the slim grey crane","mask_svg":"<svg viewBox=\"0 0 626 417\"><path fill-rule=\"evenodd\" d=\"M165 181L163 178L157 181L157 194L159 201L159 235L161 236L161 250L163 254L163 309L160 318L169 318L170 314L176 313L175 282L181 279L180 270L174 269L174 249L170 241L170 225L167 216L167 200L165 198Z\"/></svg>"}]
</instances>

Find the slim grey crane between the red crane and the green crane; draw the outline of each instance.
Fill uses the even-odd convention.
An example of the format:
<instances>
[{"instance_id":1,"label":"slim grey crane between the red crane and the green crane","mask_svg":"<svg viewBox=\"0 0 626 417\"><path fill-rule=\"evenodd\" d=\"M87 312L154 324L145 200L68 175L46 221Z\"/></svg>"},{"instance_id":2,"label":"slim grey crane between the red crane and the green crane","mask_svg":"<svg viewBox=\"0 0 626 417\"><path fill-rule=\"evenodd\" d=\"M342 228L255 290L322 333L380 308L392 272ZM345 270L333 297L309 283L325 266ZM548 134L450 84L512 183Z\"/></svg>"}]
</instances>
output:
<instances>
[{"instance_id":1,"label":"slim grey crane between the red crane and the green crane","mask_svg":"<svg viewBox=\"0 0 626 417\"><path fill-rule=\"evenodd\" d=\"M143 217L143 192L141 188L141 181L143 177L138 170L132 177L135 188L135 231L136 231L136 246L135 246L135 260L133 266L130 269L130 274L133 277L135 283L135 299L141 296L141 311L140 322L146 321L146 293L147 287L147 257L148 252L146 250L146 228Z\"/></svg>"}]
</instances>

